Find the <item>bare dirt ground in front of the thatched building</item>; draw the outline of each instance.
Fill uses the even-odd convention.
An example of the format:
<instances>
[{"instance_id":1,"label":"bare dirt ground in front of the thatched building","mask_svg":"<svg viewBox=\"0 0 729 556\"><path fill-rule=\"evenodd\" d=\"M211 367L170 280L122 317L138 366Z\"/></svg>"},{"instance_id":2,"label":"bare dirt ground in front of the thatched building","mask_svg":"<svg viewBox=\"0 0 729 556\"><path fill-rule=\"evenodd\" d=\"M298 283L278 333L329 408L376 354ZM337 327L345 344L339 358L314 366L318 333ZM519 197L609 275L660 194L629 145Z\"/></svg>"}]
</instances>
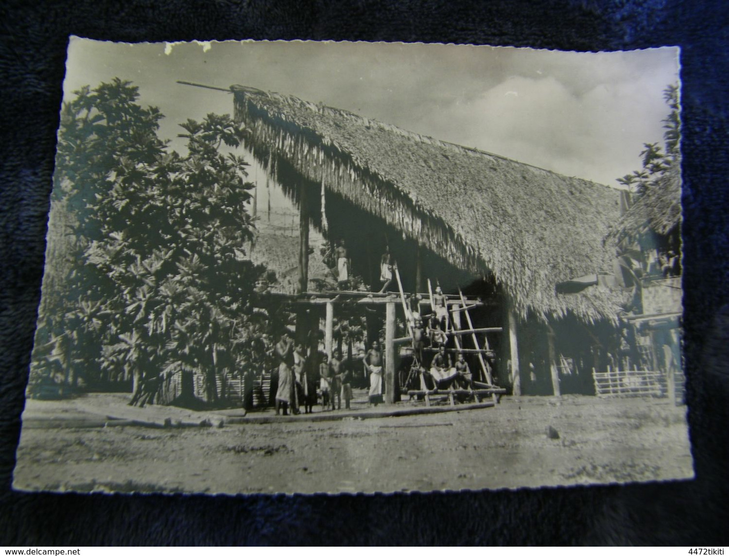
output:
<instances>
[{"instance_id":1,"label":"bare dirt ground in front of the thatched building","mask_svg":"<svg viewBox=\"0 0 729 556\"><path fill-rule=\"evenodd\" d=\"M52 427L44 412L52 413ZM82 492L388 493L691 478L685 412L666 399L522 397L434 415L146 428L104 427L98 415L69 402L33 401L24 415L14 485ZM547 434L550 426L558 438Z\"/></svg>"}]
</instances>

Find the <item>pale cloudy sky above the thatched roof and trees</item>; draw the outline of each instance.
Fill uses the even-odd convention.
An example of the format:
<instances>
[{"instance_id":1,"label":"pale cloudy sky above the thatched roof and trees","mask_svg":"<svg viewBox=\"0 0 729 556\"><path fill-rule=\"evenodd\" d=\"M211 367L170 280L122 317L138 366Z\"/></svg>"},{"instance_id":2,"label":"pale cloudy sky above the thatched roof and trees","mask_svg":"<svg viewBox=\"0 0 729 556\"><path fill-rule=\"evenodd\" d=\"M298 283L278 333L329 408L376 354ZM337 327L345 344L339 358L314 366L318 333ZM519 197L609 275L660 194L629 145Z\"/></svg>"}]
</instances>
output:
<instances>
[{"instance_id":1,"label":"pale cloudy sky above the thatched roof and trees","mask_svg":"<svg viewBox=\"0 0 729 556\"><path fill-rule=\"evenodd\" d=\"M179 85L247 85L346 109L443 141L617 187L663 144L677 48L557 52L367 42L112 43L71 37L64 97L114 77L179 122L233 113L233 95ZM174 141L176 148L182 143ZM257 174L260 168L252 168Z\"/></svg>"}]
</instances>

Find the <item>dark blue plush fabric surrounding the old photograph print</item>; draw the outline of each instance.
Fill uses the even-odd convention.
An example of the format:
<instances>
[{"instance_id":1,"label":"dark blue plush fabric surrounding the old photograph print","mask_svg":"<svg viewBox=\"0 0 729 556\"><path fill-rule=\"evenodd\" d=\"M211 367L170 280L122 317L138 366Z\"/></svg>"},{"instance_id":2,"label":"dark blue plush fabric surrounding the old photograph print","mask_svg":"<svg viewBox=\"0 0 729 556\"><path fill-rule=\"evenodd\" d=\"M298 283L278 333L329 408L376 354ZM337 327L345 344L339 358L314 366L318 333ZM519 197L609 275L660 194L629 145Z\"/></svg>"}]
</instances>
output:
<instances>
[{"instance_id":1,"label":"dark blue plush fabric surrounding the old photograph print","mask_svg":"<svg viewBox=\"0 0 729 556\"><path fill-rule=\"evenodd\" d=\"M721 0L5 1L0 6L0 545L728 544L729 10ZM691 482L397 496L10 490L69 34L682 47Z\"/></svg>"}]
</instances>

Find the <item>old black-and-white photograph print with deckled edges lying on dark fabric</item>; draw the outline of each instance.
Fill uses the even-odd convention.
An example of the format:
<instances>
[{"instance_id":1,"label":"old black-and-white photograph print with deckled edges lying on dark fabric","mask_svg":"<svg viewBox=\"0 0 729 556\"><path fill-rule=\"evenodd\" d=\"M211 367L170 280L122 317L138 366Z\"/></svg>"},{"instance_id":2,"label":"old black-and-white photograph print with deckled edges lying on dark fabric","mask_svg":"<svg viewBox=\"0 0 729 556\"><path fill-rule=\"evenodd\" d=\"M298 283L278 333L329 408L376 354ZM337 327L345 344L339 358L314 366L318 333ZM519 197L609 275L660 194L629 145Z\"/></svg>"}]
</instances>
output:
<instances>
[{"instance_id":1,"label":"old black-and-white photograph print with deckled edges lying on dark fabric","mask_svg":"<svg viewBox=\"0 0 729 556\"><path fill-rule=\"evenodd\" d=\"M13 486L690 479L679 50L72 37Z\"/></svg>"}]
</instances>

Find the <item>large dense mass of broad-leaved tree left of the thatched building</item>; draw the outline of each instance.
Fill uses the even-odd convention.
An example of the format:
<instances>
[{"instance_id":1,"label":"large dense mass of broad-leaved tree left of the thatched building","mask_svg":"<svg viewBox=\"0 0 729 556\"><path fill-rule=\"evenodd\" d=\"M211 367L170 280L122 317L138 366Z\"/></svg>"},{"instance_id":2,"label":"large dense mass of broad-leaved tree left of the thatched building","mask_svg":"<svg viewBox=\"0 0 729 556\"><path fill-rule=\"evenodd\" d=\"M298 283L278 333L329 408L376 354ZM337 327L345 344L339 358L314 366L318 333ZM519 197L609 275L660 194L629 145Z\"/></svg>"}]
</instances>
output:
<instances>
[{"instance_id":1,"label":"large dense mass of broad-leaved tree left of the thatched building","mask_svg":"<svg viewBox=\"0 0 729 556\"><path fill-rule=\"evenodd\" d=\"M77 215L66 251L87 265L56 302L59 320L75 319L95 345L97 377L133 369L136 391L144 375L195 369L214 402L219 354L235 360L249 339L241 331L267 324L251 305L264 269L244 248L254 228L247 163L224 152L243 131L227 115L187 120L179 154L157 137L163 115L138 98L114 79L64 106L56 202Z\"/></svg>"}]
</instances>

